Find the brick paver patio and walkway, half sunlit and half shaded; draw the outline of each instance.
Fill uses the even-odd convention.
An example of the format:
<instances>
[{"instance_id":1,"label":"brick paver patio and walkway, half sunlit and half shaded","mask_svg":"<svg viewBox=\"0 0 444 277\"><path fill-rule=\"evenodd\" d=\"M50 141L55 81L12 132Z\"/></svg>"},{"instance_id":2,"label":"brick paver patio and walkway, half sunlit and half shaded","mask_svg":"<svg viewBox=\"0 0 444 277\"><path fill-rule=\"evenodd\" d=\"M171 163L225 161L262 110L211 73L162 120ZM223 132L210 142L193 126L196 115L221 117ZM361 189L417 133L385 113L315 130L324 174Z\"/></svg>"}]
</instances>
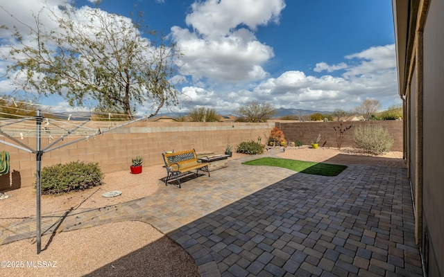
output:
<instances>
[{"instance_id":1,"label":"brick paver patio and walkway, half sunlit and half shaded","mask_svg":"<svg viewBox=\"0 0 444 277\"><path fill-rule=\"evenodd\" d=\"M178 242L201 276L422 276L406 168L351 165L321 177L246 159L255 157L181 189L44 215L42 232L140 220ZM0 230L0 243L32 237L35 219Z\"/></svg>"}]
</instances>

